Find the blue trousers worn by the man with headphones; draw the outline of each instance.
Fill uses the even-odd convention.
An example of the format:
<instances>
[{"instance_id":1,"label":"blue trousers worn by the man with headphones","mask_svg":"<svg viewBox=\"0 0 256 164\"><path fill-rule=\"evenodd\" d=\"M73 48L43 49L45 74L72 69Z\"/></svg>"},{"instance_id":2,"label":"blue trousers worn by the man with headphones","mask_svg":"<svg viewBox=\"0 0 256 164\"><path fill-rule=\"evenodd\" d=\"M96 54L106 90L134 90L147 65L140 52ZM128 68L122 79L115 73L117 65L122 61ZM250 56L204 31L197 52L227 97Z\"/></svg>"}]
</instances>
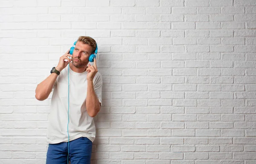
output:
<instances>
[{"instance_id":1,"label":"blue trousers worn by the man with headphones","mask_svg":"<svg viewBox=\"0 0 256 164\"><path fill-rule=\"evenodd\" d=\"M71 164L90 164L93 143L86 137L69 142ZM46 164L67 164L67 142L49 144Z\"/></svg>"}]
</instances>

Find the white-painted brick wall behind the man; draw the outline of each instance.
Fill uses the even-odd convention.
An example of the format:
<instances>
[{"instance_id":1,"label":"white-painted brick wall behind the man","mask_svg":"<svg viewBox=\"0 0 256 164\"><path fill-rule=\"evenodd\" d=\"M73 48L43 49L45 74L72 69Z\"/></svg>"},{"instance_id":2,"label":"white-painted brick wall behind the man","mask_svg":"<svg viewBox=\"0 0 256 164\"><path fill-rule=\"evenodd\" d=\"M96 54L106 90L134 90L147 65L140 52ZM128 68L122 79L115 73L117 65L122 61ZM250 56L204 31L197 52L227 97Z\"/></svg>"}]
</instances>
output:
<instances>
[{"instance_id":1,"label":"white-painted brick wall behind the man","mask_svg":"<svg viewBox=\"0 0 256 164\"><path fill-rule=\"evenodd\" d=\"M99 44L92 164L256 164L256 0L0 0L0 164L44 164L36 85Z\"/></svg>"}]
</instances>

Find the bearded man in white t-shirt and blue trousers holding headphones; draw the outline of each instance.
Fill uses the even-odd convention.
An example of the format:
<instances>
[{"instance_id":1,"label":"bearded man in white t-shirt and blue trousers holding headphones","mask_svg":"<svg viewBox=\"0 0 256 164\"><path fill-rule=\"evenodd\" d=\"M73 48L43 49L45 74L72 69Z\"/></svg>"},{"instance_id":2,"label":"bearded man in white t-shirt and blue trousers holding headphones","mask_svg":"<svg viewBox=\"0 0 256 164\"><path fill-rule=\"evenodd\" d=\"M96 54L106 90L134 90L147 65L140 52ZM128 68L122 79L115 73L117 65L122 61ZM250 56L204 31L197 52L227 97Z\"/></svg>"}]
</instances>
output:
<instances>
[{"instance_id":1,"label":"bearded man in white t-shirt and blue trousers holding headphones","mask_svg":"<svg viewBox=\"0 0 256 164\"><path fill-rule=\"evenodd\" d=\"M61 56L57 67L52 68L51 74L35 90L36 99L43 101L54 88L47 164L67 164L68 160L71 164L90 164L96 134L93 117L99 112L102 99L102 76L96 59L93 65L88 65L95 50L93 38L79 37L73 55L68 50Z\"/></svg>"}]
</instances>

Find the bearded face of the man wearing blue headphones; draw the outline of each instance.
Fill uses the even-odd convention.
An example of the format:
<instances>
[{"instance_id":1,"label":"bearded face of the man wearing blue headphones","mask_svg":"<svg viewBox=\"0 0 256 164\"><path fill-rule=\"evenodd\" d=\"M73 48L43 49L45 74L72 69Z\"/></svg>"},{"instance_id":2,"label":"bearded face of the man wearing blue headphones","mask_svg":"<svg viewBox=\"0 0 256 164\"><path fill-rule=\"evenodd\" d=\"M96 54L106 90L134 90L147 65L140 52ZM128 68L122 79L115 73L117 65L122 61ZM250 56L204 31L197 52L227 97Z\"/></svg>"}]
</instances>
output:
<instances>
[{"instance_id":1,"label":"bearded face of the man wearing blue headphones","mask_svg":"<svg viewBox=\"0 0 256 164\"><path fill-rule=\"evenodd\" d=\"M90 45L83 42L76 42L75 49L73 51L72 63L76 68L85 67L89 62L89 57L92 52Z\"/></svg>"}]
</instances>

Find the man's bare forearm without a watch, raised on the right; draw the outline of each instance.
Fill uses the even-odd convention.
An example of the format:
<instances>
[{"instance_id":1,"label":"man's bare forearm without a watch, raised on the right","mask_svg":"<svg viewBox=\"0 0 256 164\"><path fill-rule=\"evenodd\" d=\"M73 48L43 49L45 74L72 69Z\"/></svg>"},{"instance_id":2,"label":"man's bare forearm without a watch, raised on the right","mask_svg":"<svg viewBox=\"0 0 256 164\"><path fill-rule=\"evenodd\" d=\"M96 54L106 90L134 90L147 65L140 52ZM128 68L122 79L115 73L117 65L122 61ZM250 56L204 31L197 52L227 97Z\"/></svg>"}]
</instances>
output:
<instances>
[{"instance_id":1,"label":"man's bare forearm without a watch, raised on the right","mask_svg":"<svg viewBox=\"0 0 256 164\"><path fill-rule=\"evenodd\" d=\"M87 97L85 106L90 117L96 116L100 110L99 99L96 96L92 81L87 81Z\"/></svg>"}]
</instances>

